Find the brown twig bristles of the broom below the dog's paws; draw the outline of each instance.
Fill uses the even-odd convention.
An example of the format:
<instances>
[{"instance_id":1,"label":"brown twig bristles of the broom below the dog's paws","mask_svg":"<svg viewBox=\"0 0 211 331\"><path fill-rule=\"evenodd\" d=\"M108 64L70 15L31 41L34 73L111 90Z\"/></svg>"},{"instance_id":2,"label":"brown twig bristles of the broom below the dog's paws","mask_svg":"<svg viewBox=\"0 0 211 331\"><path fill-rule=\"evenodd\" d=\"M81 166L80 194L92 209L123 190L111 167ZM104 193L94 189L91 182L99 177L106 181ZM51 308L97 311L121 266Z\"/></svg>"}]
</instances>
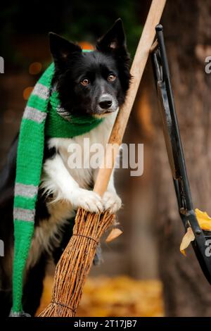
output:
<instances>
[{"instance_id":1,"label":"brown twig bristles of the broom below the dog's paws","mask_svg":"<svg viewBox=\"0 0 211 331\"><path fill-rule=\"evenodd\" d=\"M113 225L115 215L96 214L79 208L73 235L56 266L51 304L39 317L74 317L84 283L103 233Z\"/></svg>"}]
</instances>

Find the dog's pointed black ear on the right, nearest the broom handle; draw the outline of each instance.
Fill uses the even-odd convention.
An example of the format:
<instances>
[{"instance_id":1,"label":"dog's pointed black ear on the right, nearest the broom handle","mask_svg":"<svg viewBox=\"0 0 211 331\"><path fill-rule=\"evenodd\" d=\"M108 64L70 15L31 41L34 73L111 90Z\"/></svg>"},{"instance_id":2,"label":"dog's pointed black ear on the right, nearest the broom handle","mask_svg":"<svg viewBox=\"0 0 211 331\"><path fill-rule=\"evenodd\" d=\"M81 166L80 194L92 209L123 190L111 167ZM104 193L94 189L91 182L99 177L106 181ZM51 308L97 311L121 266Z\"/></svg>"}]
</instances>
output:
<instances>
[{"instance_id":1,"label":"dog's pointed black ear on the right, nearest the broom handle","mask_svg":"<svg viewBox=\"0 0 211 331\"><path fill-rule=\"evenodd\" d=\"M126 50L126 40L121 18L118 18L113 27L106 32L96 43L98 51L118 51Z\"/></svg>"}]
</instances>

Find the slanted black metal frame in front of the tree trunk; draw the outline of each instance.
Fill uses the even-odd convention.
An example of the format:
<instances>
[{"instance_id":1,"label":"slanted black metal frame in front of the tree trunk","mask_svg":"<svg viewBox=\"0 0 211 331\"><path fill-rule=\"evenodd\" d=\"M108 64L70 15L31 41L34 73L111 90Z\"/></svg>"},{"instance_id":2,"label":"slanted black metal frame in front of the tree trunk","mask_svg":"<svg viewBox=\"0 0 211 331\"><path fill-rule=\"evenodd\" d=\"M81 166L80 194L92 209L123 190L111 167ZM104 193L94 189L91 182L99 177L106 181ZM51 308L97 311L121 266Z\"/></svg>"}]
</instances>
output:
<instances>
[{"instance_id":1,"label":"slanted black metal frame in front of the tree trunk","mask_svg":"<svg viewBox=\"0 0 211 331\"><path fill-rule=\"evenodd\" d=\"M193 230L195 240L192 242L192 246L203 273L211 284L211 256L205 254L208 246L207 240L211 239L211 234L210 232L205 232L201 229L193 209L191 189L188 182L184 152L179 135L177 113L174 106L174 97L170 82L170 70L167 63L162 25L157 25L155 30L158 44L155 44L152 50L153 70L160 101L162 127L172 170L179 215L185 231L188 226L191 226Z\"/></svg>"}]
</instances>

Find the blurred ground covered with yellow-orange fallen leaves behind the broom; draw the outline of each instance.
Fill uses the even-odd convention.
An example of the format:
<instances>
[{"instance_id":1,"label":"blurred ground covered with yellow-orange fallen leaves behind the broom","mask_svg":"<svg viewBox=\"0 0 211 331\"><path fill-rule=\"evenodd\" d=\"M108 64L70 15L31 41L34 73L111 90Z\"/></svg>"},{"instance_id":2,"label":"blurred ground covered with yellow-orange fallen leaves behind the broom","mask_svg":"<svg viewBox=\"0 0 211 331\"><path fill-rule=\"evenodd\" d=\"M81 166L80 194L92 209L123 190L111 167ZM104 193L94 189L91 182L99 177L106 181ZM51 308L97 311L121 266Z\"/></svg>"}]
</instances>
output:
<instances>
[{"instance_id":1,"label":"blurred ground covered with yellow-orange fallen leaves behind the broom","mask_svg":"<svg viewBox=\"0 0 211 331\"><path fill-rule=\"evenodd\" d=\"M53 277L47 276L37 315L51 301ZM163 316L162 285L158 280L134 280L127 276L89 277L77 316Z\"/></svg>"}]
</instances>

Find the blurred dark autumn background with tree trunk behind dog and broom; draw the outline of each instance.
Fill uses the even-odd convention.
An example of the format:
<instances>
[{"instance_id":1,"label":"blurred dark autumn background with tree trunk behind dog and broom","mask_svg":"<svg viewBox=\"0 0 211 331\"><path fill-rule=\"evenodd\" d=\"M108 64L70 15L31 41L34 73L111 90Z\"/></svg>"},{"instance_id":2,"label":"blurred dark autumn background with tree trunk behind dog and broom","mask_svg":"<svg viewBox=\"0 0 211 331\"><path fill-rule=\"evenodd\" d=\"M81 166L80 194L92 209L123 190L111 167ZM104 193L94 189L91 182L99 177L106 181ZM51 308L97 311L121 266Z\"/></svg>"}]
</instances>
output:
<instances>
[{"instance_id":1,"label":"blurred dark autumn background with tree trunk behind dog and broom","mask_svg":"<svg viewBox=\"0 0 211 331\"><path fill-rule=\"evenodd\" d=\"M9 1L0 11L0 166L20 125L32 87L51 62L48 32L84 48L122 18L134 56L151 1ZM162 16L181 139L193 203L211 215L211 56L209 0L167 0ZM123 235L103 244L103 264L93 267L79 316L210 316L211 290L191 249L179 252L184 231L177 213L160 126L151 61L148 61L124 135L144 144L144 170L116 173L124 203L118 213ZM43 308L51 298L53 266L45 280ZM40 308L40 309L41 309Z\"/></svg>"}]
</instances>

